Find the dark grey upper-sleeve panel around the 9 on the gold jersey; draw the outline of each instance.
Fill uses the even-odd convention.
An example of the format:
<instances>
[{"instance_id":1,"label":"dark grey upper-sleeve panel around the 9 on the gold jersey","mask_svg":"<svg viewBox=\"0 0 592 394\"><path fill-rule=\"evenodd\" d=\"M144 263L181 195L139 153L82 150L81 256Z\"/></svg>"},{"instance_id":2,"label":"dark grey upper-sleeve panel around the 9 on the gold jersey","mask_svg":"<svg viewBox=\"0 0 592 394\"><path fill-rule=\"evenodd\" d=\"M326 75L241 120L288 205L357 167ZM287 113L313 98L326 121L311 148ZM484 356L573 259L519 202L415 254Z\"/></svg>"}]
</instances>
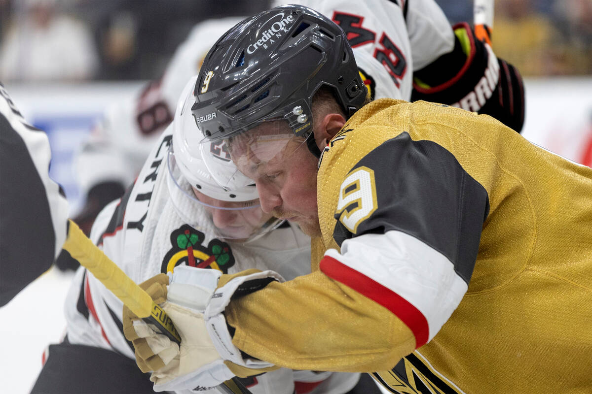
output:
<instances>
[{"instance_id":1,"label":"dark grey upper-sleeve panel around the 9 on the gold jersey","mask_svg":"<svg viewBox=\"0 0 592 394\"><path fill-rule=\"evenodd\" d=\"M374 172L377 207L356 234L336 214L337 245L365 233L398 230L445 255L468 283L489 211L485 188L443 146L413 141L407 132L378 145L349 173L361 167Z\"/></svg>"}]
</instances>

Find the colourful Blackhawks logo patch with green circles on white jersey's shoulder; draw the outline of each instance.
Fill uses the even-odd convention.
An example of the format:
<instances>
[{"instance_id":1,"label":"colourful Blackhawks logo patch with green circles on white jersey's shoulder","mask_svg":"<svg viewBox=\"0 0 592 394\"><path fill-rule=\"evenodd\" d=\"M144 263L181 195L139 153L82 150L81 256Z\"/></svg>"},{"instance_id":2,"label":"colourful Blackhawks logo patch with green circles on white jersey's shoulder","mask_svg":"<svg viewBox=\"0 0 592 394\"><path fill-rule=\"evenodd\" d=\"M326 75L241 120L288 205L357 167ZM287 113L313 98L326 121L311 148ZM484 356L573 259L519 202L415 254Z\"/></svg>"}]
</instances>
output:
<instances>
[{"instance_id":1,"label":"colourful Blackhawks logo patch with green circles on white jersey's shoulder","mask_svg":"<svg viewBox=\"0 0 592 394\"><path fill-rule=\"evenodd\" d=\"M205 247L204 233L184 224L170 234L172 248L166 252L161 272L173 272L173 268L185 263L197 268L213 268L223 273L234 265L232 250L226 242L213 239Z\"/></svg>"}]
</instances>

